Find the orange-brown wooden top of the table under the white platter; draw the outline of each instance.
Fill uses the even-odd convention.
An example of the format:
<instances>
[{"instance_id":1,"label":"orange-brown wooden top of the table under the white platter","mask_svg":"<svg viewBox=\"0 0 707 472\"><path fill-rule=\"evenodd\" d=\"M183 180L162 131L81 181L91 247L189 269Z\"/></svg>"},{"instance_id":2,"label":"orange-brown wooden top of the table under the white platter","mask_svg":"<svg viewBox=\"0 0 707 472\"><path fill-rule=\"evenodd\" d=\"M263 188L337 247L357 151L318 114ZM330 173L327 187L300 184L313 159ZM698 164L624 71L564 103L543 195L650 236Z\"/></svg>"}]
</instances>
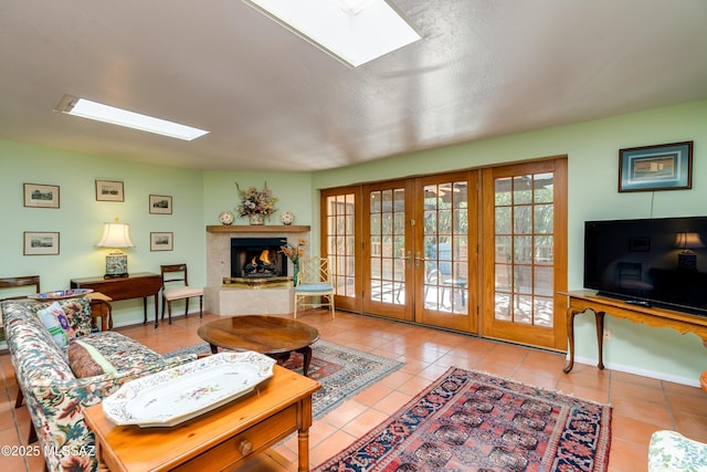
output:
<instances>
[{"instance_id":1,"label":"orange-brown wooden top of the table under the white platter","mask_svg":"<svg viewBox=\"0 0 707 472\"><path fill-rule=\"evenodd\" d=\"M101 403L84 409L84 416L98 441L109 444L103 452L113 472L170 470L321 387L284 367L273 369L273 377L252 394L171 428L116 426Z\"/></svg>"}]
</instances>

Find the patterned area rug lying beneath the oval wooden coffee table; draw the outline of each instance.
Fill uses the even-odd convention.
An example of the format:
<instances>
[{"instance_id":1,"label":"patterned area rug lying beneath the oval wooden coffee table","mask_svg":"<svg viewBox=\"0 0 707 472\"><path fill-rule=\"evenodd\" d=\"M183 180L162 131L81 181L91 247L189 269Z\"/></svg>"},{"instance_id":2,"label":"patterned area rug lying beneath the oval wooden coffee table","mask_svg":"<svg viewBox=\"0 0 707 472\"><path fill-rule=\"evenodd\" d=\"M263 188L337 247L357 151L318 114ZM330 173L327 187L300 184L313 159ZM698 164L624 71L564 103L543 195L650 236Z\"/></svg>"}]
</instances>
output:
<instances>
[{"instance_id":1,"label":"patterned area rug lying beneath the oval wooden coffee table","mask_svg":"<svg viewBox=\"0 0 707 472\"><path fill-rule=\"evenodd\" d=\"M182 349L165 354L165 357L178 354L207 354L209 344L199 343ZM312 415L321 418L347 398L362 391L388 374L404 365L398 360L374 356L350 347L319 339L312 345L312 364L308 377L321 384L313 395ZM303 356L293 354L284 367L302 374Z\"/></svg>"}]
</instances>

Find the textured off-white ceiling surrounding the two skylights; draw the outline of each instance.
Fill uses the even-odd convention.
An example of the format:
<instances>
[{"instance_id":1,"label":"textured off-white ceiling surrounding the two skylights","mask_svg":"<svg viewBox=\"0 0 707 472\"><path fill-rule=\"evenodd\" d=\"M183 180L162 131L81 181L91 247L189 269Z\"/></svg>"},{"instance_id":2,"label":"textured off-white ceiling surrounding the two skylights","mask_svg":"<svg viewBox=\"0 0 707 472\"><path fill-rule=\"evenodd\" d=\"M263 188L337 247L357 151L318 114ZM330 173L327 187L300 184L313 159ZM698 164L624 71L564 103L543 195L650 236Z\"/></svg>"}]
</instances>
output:
<instances>
[{"instance_id":1,"label":"textured off-white ceiling surrounding the two skylights","mask_svg":"<svg viewBox=\"0 0 707 472\"><path fill-rule=\"evenodd\" d=\"M315 170L707 98L706 0L392 3L423 40L349 69L241 0L1 0L0 138ZM53 112L64 94L211 133Z\"/></svg>"}]
</instances>

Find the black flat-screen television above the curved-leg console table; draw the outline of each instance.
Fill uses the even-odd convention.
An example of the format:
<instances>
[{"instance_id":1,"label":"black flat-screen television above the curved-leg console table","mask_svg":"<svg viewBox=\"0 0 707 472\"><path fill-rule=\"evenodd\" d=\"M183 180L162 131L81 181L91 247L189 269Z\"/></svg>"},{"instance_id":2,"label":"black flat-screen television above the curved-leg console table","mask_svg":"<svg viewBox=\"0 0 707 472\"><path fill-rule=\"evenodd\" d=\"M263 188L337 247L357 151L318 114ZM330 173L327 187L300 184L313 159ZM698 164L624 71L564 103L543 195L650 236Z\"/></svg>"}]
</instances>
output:
<instances>
[{"instance_id":1,"label":"black flat-screen television above the curved-leg console table","mask_svg":"<svg viewBox=\"0 0 707 472\"><path fill-rule=\"evenodd\" d=\"M707 217L587 221L584 287L707 316Z\"/></svg>"}]
</instances>

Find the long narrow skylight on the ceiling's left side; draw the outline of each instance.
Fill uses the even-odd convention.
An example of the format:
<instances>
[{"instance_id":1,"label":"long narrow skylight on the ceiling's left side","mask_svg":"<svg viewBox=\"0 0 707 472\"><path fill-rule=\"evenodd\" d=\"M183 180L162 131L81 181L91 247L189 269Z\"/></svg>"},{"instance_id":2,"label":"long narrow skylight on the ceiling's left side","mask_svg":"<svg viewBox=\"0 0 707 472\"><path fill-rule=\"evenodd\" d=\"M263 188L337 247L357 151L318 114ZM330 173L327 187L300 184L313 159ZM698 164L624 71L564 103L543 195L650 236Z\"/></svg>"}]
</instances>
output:
<instances>
[{"instance_id":1,"label":"long narrow skylight on the ceiling's left side","mask_svg":"<svg viewBox=\"0 0 707 472\"><path fill-rule=\"evenodd\" d=\"M192 140L209 133L71 95L64 95L56 106L56 112L184 140Z\"/></svg>"}]
</instances>

